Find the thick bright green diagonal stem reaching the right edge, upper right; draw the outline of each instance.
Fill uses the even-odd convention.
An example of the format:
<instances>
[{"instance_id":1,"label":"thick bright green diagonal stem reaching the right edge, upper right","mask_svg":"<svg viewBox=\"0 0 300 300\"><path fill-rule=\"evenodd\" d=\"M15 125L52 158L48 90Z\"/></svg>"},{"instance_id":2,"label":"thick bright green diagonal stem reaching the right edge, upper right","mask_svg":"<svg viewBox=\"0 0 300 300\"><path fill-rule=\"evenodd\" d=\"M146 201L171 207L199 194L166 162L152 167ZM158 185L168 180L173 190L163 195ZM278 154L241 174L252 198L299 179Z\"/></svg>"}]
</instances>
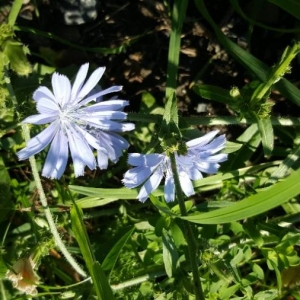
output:
<instances>
[{"instance_id":1,"label":"thick bright green diagonal stem reaching the right edge, upper right","mask_svg":"<svg viewBox=\"0 0 300 300\"><path fill-rule=\"evenodd\" d=\"M259 102L265 94L270 90L272 85L276 83L282 76L289 71L289 65L295 56L300 52L300 44L295 43L292 47L287 47L284 51L284 54L281 58L281 61L277 64L274 69L271 69L272 72L268 76L267 81L263 84L260 84L255 90L252 96L252 101Z\"/></svg>"}]
</instances>

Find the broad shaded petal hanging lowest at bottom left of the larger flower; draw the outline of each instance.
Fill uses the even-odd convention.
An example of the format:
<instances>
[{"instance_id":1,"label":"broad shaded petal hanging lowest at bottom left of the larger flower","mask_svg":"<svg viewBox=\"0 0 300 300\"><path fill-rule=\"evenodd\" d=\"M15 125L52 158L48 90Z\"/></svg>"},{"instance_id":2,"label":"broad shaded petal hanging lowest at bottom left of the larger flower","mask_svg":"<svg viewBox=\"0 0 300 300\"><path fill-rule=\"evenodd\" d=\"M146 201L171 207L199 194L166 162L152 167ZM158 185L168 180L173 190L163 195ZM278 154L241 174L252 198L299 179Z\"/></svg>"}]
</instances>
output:
<instances>
[{"instance_id":1,"label":"broad shaded petal hanging lowest at bottom left of the larger flower","mask_svg":"<svg viewBox=\"0 0 300 300\"><path fill-rule=\"evenodd\" d=\"M60 130L51 143L42 175L51 179L59 179L66 169L68 154L68 138Z\"/></svg>"}]
</instances>

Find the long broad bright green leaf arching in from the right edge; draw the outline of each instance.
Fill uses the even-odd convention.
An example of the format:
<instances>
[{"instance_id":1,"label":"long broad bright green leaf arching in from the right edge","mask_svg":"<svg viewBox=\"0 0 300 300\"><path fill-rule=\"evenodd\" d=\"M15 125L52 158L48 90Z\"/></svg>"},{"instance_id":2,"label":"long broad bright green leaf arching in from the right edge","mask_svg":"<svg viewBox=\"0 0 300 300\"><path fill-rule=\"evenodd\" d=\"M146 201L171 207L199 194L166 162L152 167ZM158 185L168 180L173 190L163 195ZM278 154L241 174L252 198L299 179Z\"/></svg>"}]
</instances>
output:
<instances>
[{"instance_id":1,"label":"long broad bright green leaf arching in from the right edge","mask_svg":"<svg viewBox=\"0 0 300 300\"><path fill-rule=\"evenodd\" d=\"M181 218L199 224L222 224L259 215L297 196L300 193L299 176L300 169L284 181L259 191L232 206Z\"/></svg>"}]
</instances>

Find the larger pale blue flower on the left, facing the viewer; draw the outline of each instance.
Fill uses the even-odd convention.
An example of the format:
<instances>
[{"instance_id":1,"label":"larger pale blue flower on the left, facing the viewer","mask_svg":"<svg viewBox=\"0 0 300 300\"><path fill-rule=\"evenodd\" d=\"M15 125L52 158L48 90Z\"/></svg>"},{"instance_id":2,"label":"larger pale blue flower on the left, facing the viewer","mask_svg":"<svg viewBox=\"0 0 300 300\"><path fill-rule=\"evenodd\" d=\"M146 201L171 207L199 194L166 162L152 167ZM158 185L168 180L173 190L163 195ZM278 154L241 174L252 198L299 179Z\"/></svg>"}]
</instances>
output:
<instances>
[{"instance_id":1,"label":"larger pale blue flower on the left, facing the viewer","mask_svg":"<svg viewBox=\"0 0 300 300\"><path fill-rule=\"evenodd\" d=\"M105 169L108 160L117 162L128 142L118 132L134 129L132 123L122 123L127 118L123 108L128 101L111 99L96 102L103 95L118 92L121 86L95 91L105 68L96 69L86 80L89 64L80 67L73 85L58 73L52 75L52 91L45 86L33 94L39 114L26 118L23 123L47 124L42 132L30 139L17 153L20 160L39 153L51 144L42 175L60 178L66 168L69 149L75 176L84 174L85 166L91 170ZM90 102L96 102L88 105ZM97 162L93 150L97 150Z\"/></svg>"}]
</instances>

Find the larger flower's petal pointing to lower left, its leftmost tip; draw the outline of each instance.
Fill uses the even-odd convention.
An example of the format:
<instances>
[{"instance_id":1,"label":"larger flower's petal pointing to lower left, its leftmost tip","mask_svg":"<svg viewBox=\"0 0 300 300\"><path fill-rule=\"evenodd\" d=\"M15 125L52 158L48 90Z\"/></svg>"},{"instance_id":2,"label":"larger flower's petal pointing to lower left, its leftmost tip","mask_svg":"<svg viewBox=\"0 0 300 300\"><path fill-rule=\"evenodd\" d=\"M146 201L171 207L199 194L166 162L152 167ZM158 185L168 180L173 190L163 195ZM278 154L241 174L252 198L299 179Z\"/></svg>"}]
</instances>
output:
<instances>
[{"instance_id":1,"label":"larger flower's petal pointing to lower left, its leftmost tip","mask_svg":"<svg viewBox=\"0 0 300 300\"><path fill-rule=\"evenodd\" d=\"M58 122L53 122L38 135L30 139L26 147L17 153L19 160L27 159L45 149L52 141L58 129Z\"/></svg>"}]
</instances>

